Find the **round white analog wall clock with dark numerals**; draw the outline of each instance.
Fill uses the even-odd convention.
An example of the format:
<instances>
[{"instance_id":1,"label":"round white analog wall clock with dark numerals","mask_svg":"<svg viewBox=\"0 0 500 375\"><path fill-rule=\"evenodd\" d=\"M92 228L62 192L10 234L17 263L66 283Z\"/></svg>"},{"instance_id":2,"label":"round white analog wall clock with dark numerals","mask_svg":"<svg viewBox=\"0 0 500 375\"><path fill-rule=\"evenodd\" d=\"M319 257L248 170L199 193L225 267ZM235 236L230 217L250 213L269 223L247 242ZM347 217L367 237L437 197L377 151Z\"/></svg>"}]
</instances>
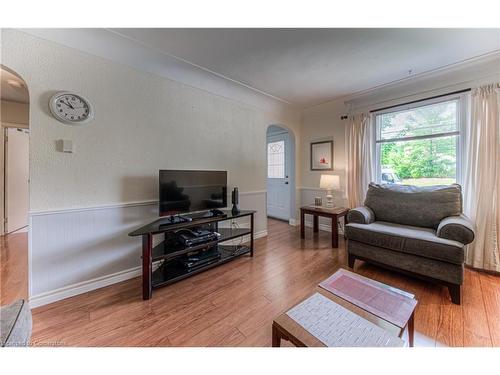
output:
<instances>
[{"instance_id":1,"label":"round white analog wall clock with dark numerals","mask_svg":"<svg viewBox=\"0 0 500 375\"><path fill-rule=\"evenodd\" d=\"M92 104L81 95L68 91L55 93L49 102L52 115L65 124L84 124L94 116Z\"/></svg>"}]
</instances>

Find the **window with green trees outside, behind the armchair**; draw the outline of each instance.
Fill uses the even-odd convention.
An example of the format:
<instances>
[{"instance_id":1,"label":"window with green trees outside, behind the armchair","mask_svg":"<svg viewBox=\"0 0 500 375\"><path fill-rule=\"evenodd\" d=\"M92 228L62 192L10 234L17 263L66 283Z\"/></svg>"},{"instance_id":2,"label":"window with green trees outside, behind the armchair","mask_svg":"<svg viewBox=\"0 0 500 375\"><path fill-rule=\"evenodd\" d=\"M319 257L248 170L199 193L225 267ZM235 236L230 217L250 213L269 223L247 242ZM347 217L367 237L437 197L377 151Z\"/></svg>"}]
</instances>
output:
<instances>
[{"instance_id":1,"label":"window with green trees outside, behind the armchair","mask_svg":"<svg viewBox=\"0 0 500 375\"><path fill-rule=\"evenodd\" d=\"M460 181L465 96L375 113L380 183L446 185Z\"/></svg>"}]
</instances>

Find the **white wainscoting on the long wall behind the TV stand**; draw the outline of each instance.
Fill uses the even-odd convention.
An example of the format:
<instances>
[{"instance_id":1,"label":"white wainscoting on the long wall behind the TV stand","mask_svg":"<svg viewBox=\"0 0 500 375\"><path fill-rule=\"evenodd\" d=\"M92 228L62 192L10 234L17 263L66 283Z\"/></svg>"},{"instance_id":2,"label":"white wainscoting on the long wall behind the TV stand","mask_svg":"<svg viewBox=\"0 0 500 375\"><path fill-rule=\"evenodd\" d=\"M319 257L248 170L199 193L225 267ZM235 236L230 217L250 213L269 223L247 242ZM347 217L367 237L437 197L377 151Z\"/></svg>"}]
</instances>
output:
<instances>
[{"instance_id":1,"label":"white wainscoting on the long wall behind the TV stand","mask_svg":"<svg viewBox=\"0 0 500 375\"><path fill-rule=\"evenodd\" d=\"M240 193L240 208L257 210L255 236L266 236L265 190ZM31 306L139 276L141 238L128 233L157 215L157 202L31 213Z\"/></svg>"}]
</instances>

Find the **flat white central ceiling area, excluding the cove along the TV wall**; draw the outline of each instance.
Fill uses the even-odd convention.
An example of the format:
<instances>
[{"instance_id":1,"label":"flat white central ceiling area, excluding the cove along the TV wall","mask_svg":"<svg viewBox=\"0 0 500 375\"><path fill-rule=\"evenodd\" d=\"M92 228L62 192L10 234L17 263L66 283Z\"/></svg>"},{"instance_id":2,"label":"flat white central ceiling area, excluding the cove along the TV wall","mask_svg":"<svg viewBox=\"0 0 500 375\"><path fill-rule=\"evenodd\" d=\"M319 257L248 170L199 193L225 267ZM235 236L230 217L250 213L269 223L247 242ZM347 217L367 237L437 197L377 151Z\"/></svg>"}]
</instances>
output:
<instances>
[{"instance_id":1,"label":"flat white central ceiling area, excluding the cove along the TV wall","mask_svg":"<svg viewBox=\"0 0 500 375\"><path fill-rule=\"evenodd\" d=\"M500 50L500 29L111 31L301 107Z\"/></svg>"}]
</instances>

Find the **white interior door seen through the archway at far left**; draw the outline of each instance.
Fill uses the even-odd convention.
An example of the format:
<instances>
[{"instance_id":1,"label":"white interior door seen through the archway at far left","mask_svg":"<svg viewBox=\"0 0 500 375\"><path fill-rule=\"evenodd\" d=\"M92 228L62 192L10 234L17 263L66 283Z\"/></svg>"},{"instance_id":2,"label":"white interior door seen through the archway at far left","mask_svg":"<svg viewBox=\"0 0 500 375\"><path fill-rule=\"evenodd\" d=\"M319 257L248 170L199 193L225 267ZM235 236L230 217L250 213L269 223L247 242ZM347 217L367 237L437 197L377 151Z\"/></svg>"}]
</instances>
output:
<instances>
[{"instance_id":1,"label":"white interior door seen through the archway at far left","mask_svg":"<svg viewBox=\"0 0 500 375\"><path fill-rule=\"evenodd\" d=\"M5 132L5 232L28 225L29 133L6 128Z\"/></svg>"}]
</instances>

